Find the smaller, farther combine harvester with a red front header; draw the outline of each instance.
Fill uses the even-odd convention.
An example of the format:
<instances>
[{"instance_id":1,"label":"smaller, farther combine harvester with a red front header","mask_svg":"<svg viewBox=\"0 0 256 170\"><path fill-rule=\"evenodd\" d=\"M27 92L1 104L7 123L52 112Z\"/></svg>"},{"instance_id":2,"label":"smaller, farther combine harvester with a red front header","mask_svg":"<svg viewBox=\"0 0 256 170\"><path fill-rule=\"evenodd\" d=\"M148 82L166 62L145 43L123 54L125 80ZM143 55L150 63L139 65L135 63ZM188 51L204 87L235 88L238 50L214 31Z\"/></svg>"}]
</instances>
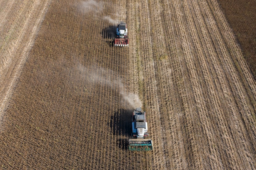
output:
<instances>
[{"instance_id":1,"label":"smaller, farther combine harvester with a red front header","mask_svg":"<svg viewBox=\"0 0 256 170\"><path fill-rule=\"evenodd\" d=\"M128 31L125 22L121 21L117 26L117 37L115 38L115 46L129 46Z\"/></svg>"}]
</instances>

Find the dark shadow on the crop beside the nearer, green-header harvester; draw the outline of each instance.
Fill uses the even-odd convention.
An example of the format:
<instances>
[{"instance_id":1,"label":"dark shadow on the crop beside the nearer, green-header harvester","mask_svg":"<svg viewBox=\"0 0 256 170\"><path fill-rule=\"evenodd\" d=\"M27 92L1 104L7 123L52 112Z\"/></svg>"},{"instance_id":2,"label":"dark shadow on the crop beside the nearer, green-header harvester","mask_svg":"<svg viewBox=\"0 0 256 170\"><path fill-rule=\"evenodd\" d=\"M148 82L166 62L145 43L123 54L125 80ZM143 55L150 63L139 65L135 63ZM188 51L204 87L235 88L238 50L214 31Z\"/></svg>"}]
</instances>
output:
<instances>
[{"instance_id":1,"label":"dark shadow on the crop beside the nearer, green-header harvester","mask_svg":"<svg viewBox=\"0 0 256 170\"><path fill-rule=\"evenodd\" d=\"M128 139L131 138L132 112L133 110L119 109L110 117L109 126L113 135L119 136L117 143L119 148L123 150L127 150ZM120 138L120 136L125 136L126 138Z\"/></svg>"}]
</instances>

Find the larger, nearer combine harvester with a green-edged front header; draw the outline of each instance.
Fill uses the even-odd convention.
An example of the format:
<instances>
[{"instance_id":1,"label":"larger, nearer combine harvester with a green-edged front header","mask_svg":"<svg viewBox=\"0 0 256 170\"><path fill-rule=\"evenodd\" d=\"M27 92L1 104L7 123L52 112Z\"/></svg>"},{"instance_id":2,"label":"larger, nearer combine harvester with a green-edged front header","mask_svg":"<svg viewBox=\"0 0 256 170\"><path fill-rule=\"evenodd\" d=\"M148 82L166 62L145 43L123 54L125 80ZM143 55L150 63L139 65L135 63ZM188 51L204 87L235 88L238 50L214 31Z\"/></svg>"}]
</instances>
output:
<instances>
[{"instance_id":1,"label":"larger, nearer combine harvester with a green-edged front header","mask_svg":"<svg viewBox=\"0 0 256 170\"><path fill-rule=\"evenodd\" d=\"M132 113L132 137L135 139L129 139L129 150L153 150L153 141L148 139L146 112L142 111L141 108L136 108Z\"/></svg>"}]
</instances>

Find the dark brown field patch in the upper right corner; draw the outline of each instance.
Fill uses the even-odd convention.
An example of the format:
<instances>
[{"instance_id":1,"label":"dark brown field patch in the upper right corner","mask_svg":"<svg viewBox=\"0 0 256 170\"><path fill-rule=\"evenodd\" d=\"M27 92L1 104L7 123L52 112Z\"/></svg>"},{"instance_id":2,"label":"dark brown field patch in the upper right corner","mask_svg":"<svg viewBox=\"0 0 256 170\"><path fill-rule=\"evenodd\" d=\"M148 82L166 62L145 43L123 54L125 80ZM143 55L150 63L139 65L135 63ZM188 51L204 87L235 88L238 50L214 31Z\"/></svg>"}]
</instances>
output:
<instances>
[{"instance_id":1,"label":"dark brown field patch in the upper right corner","mask_svg":"<svg viewBox=\"0 0 256 170\"><path fill-rule=\"evenodd\" d=\"M219 0L256 78L256 0Z\"/></svg>"}]
</instances>

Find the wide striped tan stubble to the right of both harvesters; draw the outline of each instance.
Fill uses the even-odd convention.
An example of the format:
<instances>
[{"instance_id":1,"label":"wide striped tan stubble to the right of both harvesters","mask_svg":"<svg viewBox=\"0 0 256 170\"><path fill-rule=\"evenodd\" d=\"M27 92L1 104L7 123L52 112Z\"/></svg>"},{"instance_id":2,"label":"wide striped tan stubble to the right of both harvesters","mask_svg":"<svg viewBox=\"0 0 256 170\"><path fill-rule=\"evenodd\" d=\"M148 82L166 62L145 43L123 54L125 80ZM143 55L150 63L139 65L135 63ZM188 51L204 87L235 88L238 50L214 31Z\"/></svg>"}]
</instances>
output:
<instances>
[{"instance_id":1,"label":"wide striped tan stubble to the right of both harvesters","mask_svg":"<svg viewBox=\"0 0 256 170\"><path fill-rule=\"evenodd\" d=\"M255 82L216 1L141 3L146 108L164 148L155 168L255 169Z\"/></svg>"}]
</instances>

